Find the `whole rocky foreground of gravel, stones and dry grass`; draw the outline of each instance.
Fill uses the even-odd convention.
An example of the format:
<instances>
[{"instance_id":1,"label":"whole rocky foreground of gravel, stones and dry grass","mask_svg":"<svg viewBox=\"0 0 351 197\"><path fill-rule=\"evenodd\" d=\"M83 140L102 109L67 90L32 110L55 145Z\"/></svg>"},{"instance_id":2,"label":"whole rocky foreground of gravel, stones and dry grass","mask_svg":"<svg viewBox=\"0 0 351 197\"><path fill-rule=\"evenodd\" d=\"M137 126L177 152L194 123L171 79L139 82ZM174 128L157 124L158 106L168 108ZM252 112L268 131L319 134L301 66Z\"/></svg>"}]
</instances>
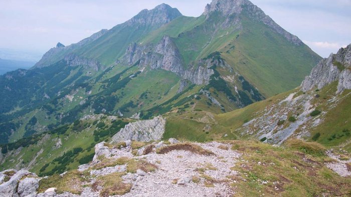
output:
<instances>
[{"instance_id":1,"label":"whole rocky foreground of gravel, stones and dry grass","mask_svg":"<svg viewBox=\"0 0 351 197\"><path fill-rule=\"evenodd\" d=\"M296 148L296 143L304 142L290 146ZM78 170L50 177L27 170L0 172L0 196L233 196L245 195L250 185L274 196L285 192L285 186L302 184L299 181L310 181L308 178L321 184L315 180L320 171L334 173L326 167L339 174L328 177L335 181L332 184L351 185L347 179L351 159L345 160L345 155L341 161L333 151L318 147L310 153L323 155L324 151L320 158L294 150L249 141L102 142L95 146L93 161ZM344 192L330 188L332 185L322 188L325 196Z\"/></svg>"}]
</instances>

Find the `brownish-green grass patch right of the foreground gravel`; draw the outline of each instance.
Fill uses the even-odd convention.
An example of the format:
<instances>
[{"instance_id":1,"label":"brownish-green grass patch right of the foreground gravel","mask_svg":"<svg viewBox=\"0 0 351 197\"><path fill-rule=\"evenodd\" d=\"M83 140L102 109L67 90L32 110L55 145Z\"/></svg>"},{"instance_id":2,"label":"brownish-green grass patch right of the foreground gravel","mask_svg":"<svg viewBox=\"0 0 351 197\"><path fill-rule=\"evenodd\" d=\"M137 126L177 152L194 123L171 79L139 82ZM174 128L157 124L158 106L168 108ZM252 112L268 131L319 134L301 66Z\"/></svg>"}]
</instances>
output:
<instances>
[{"instance_id":1,"label":"brownish-green grass patch right of the foreground gravel","mask_svg":"<svg viewBox=\"0 0 351 197\"><path fill-rule=\"evenodd\" d=\"M233 167L239 172L239 177L233 176L236 196L348 196L351 192L350 178L325 167L325 162L331 162L329 157L306 152L309 148L323 152L318 144L297 141L294 146L288 142L272 147L257 141L230 143L243 153L243 160Z\"/></svg>"}]
</instances>

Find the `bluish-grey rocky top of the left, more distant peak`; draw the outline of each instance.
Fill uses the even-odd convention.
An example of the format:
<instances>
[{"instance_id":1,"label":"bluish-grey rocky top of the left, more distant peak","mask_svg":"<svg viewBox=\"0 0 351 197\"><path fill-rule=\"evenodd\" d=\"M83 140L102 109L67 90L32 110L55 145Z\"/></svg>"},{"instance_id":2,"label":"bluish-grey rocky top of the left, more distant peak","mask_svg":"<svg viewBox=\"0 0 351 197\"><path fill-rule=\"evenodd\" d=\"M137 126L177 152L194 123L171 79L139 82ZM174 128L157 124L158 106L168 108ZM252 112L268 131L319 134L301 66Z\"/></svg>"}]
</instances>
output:
<instances>
[{"instance_id":1,"label":"bluish-grey rocky top of the left, more distant peak","mask_svg":"<svg viewBox=\"0 0 351 197\"><path fill-rule=\"evenodd\" d=\"M143 24L143 25L162 25L170 22L171 20L183 16L177 8L172 8L167 4L160 4L152 10L142 10L135 17L128 22L130 25Z\"/></svg>"}]
</instances>

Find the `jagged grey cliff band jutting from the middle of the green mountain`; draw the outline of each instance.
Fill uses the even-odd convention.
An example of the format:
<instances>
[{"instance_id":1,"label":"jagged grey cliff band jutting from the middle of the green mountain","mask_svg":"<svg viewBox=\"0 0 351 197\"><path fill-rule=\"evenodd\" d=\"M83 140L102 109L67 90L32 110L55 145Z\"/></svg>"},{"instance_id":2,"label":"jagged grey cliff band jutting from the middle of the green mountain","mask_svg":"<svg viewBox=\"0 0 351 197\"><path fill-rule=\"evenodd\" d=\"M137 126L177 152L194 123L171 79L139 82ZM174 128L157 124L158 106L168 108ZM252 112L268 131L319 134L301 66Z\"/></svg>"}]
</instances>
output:
<instances>
[{"instance_id":1,"label":"jagged grey cliff band jutting from the middle of the green mountain","mask_svg":"<svg viewBox=\"0 0 351 197\"><path fill-rule=\"evenodd\" d=\"M211 58L201 59L195 65L186 66L177 46L168 36L163 37L156 45L131 44L122 61L128 65L139 63L140 67L150 66L151 69L168 70L198 85L209 83L210 76L214 74L213 69L210 68L213 64L229 66L224 60Z\"/></svg>"}]
</instances>

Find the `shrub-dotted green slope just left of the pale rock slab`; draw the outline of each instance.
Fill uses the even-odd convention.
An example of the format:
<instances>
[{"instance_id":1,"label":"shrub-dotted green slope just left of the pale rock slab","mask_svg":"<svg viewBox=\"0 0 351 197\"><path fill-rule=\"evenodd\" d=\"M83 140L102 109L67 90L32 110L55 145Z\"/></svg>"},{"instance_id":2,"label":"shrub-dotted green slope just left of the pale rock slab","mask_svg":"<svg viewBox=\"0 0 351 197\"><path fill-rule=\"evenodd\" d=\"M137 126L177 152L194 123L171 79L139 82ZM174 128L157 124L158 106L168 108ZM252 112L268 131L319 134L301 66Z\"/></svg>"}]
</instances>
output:
<instances>
[{"instance_id":1,"label":"shrub-dotted green slope just left of the pale rock slab","mask_svg":"<svg viewBox=\"0 0 351 197\"><path fill-rule=\"evenodd\" d=\"M128 121L128 120L126 120ZM130 121L130 120L129 120ZM109 129L112 125L112 121L108 118L102 117L99 123L103 122L106 126L105 128L98 129L97 123L94 120L81 121L80 125L75 128L74 125L70 125L64 134L43 134L41 140L36 144L29 145L17 151L12 151L7 154L7 158L4 163L0 165L0 171L4 169L14 168L15 166L22 168L27 166L33 158L37 157L35 162L29 168L31 171L39 174L39 170L45 165L50 164L47 169L43 172L48 172L54 166L57 166L57 162L53 162L55 158L63 155L63 153L73 150L74 148L82 148L83 151L74 156L73 162L70 162L66 169L76 169L80 163L79 159L91 155L94 153L94 145L100 141L108 141L112 136L100 137L98 141L94 140L95 130ZM79 128L83 128L79 129ZM113 129L113 128L112 128ZM61 139L62 145L60 148L56 147L56 143ZM42 150L41 154L38 154Z\"/></svg>"}]
</instances>

